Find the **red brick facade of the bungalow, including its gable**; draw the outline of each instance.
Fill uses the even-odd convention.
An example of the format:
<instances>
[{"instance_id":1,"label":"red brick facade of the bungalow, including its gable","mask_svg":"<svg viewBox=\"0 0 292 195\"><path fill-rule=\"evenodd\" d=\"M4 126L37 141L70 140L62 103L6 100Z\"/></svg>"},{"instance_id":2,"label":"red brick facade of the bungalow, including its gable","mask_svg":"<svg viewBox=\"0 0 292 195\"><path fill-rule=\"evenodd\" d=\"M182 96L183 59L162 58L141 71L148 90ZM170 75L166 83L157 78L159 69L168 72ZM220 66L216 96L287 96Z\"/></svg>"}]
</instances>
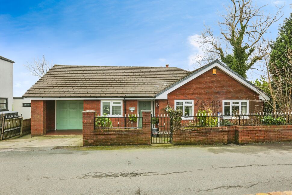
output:
<instances>
[{"instance_id":1,"label":"red brick facade of the bungalow, including its gable","mask_svg":"<svg viewBox=\"0 0 292 195\"><path fill-rule=\"evenodd\" d=\"M205 109L212 108L212 102L217 102L218 107L213 109L214 112L222 112L222 100L250 100L250 112L261 110L262 105L262 102L259 101L259 95L256 92L242 85L218 68L216 68L216 75L212 74L211 69L170 92L167 100L155 100L155 114L166 115L165 107L167 104L175 107L175 100L194 100L194 113L197 113L198 107L200 106L197 102L202 102L202 100L206 103ZM46 131L54 129L54 104L54 100L32 100L32 136L45 135ZM135 107L135 111L131 112L129 107ZM101 100L84 100L83 108L84 110L96 110L101 115ZM123 100L122 112L123 115L126 114L127 116L128 114L137 114L138 100ZM228 140L230 142L235 142L234 134L235 130L228 132Z\"/></svg>"}]
</instances>

